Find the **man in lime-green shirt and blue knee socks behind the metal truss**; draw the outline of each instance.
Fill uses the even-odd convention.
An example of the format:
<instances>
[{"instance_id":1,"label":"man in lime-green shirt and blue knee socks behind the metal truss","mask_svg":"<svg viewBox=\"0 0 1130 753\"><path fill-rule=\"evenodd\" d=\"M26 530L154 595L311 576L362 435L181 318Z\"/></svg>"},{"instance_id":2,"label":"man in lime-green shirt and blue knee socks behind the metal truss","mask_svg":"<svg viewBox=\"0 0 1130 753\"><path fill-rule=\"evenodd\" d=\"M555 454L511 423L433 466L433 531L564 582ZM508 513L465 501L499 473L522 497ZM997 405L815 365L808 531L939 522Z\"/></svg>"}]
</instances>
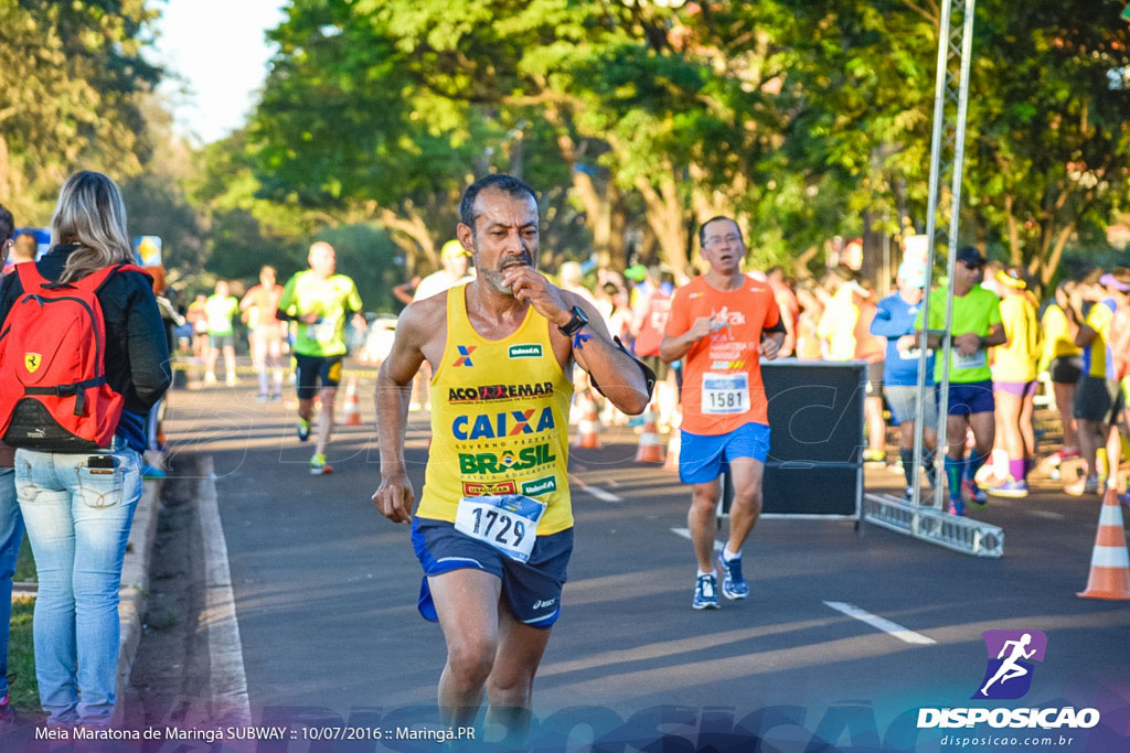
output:
<instances>
[{"instance_id":1,"label":"man in lime-green shirt and blue knee socks behind the metal truss","mask_svg":"<svg viewBox=\"0 0 1130 753\"><path fill-rule=\"evenodd\" d=\"M949 482L949 511L965 514L964 497L977 507L988 497L974 479L989 459L994 439L992 375L989 370L989 348L1005 342L1000 321L1000 299L981 287L985 257L972 246L957 249L954 270L953 351L949 366L949 410L946 419L946 479ZM946 289L930 294L931 332L946 323ZM922 312L915 326L922 330ZM941 347L941 338L931 334L931 348ZM936 388L941 389L945 368L939 357L935 362ZM940 395L939 395L940 397ZM940 401L939 401L940 402ZM966 427L973 430L974 448L965 457Z\"/></svg>"}]
</instances>

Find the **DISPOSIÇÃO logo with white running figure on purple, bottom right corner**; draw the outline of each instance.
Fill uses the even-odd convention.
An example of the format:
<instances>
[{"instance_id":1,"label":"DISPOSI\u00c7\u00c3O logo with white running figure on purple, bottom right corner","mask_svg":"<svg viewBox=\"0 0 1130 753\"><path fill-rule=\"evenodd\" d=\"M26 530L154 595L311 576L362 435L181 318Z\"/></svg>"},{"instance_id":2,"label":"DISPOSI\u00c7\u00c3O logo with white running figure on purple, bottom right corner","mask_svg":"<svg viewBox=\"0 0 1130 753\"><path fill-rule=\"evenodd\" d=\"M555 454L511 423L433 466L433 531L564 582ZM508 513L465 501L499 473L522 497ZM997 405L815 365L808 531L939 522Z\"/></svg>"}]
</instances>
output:
<instances>
[{"instance_id":1,"label":"DISPOSI\u00c7\u00c3O logo with white running figure on purple, bottom right corner","mask_svg":"<svg viewBox=\"0 0 1130 753\"><path fill-rule=\"evenodd\" d=\"M1043 662L1048 636L1040 630L986 630L988 659L984 676L973 700L1015 700L1032 688L1033 662ZM1012 729L1089 729L1099 721L1097 709L1071 706L1048 708L921 708L918 727L956 728L986 724Z\"/></svg>"}]
</instances>

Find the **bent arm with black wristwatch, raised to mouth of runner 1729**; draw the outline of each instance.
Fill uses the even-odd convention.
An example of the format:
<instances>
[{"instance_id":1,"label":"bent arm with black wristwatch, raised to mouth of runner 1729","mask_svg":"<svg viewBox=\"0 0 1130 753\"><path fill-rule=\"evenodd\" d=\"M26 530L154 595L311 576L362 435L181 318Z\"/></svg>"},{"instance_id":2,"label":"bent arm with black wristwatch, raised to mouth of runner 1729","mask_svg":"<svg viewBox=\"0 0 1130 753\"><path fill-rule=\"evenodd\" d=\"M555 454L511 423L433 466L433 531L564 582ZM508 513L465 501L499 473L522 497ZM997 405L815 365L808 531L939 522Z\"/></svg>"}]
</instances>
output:
<instances>
[{"instance_id":1,"label":"bent arm with black wristwatch, raised to mouth of runner 1729","mask_svg":"<svg viewBox=\"0 0 1130 753\"><path fill-rule=\"evenodd\" d=\"M554 325L549 338L555 348L567 343L574 360L600 384L601 392L612 405L632 415L643 413L651 400L643 371L632 356L612 342L605 319L592 304L576 294L562 290L529 266L505 270L505 281L512 286L515 298L528 300L549 319ZM571 339L557 327L573 317L574 306L585 313L589 324L577 333L577 338Z\"/></svg>"}]
</instances>

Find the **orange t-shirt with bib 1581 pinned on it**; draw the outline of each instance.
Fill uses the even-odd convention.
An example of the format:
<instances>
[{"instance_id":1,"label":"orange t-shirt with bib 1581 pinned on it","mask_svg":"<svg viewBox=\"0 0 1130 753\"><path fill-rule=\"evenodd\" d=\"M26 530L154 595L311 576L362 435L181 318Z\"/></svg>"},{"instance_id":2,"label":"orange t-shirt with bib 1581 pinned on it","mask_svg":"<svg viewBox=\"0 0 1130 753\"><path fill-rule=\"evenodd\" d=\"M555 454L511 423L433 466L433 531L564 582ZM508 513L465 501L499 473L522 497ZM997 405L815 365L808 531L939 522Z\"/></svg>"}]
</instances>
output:
<instances>
[{"instance_id":1,"label":"orange t-shirt with bib 1581 pinned on it","mask_svg":"<svg viewBox=\"0 0 1130 753\"><path fill-rule=\"evenodd\" d=\"M758 347L762 331L781 321L772 288L746 278L723 292L697 277L676 291L666 334L685 334L701 316L720 316L727 324L683 357L683 429L716 436L746 423L768 424Z\"/></svg>"}]
</instances>

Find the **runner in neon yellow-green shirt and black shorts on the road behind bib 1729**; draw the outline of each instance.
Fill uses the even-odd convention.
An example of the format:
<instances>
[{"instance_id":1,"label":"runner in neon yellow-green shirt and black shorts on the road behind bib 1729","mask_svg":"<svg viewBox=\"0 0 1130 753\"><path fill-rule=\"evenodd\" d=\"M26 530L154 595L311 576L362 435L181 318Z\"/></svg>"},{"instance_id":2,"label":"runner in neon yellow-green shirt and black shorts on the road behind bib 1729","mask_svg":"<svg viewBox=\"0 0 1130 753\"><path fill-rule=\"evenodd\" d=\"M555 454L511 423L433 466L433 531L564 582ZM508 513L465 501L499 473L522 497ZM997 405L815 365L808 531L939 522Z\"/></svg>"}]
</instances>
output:
<instances>
[{"instance_id":1,"label":"runner in neon yellow-green shirt and black shorts on the road behind bib 1729","mask_svg":"<svg viewBox=\"0 0 1130 753\"><path fill-rule=\"evenodd\" d=\"M325 462L325 445L333 431L334 400L346 354L346 321L360 310L357 286L345 274L334 274L337 253L319 242L310 247L310 269L292 277L279 300L278 318L298 323L294 343L298 371L298 439L310 438L314 395L321 382L322 418L318 422L313 475L332 473Z\"/></svg>"}]
</instances>

